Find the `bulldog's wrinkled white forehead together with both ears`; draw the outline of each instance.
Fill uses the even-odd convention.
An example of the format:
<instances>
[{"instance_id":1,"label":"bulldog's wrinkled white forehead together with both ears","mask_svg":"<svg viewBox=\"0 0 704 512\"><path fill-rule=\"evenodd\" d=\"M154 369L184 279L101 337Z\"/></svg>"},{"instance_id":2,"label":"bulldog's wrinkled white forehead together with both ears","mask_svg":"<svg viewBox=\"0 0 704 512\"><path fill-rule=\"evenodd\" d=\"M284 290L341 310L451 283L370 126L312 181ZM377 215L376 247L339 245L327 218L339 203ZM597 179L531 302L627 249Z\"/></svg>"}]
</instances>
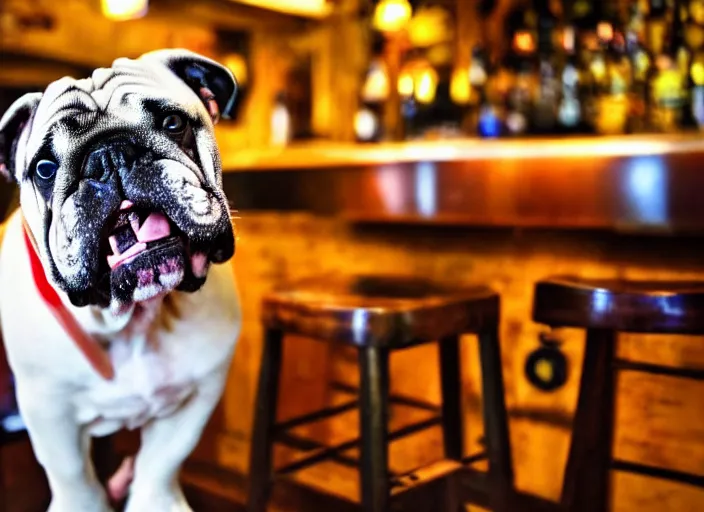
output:
<instances>
[{"instance_id":1,"label":"bulldog's wrinkled white forehead together with both ears","mask_svg":"<svg viewBox=\"0 0 704 512\"><path fill-rule=\"evenodd\" d=\"M70 170L81 151L106 136L164 147L154 123L161 119L163 128L171 114L212 138L213 125L230 118L237 90L229 69L184 49L120 58L81 80L62 78L17 99L0 117L0 174L22 180L39 159Z\"/></svg>"}]
</instances>

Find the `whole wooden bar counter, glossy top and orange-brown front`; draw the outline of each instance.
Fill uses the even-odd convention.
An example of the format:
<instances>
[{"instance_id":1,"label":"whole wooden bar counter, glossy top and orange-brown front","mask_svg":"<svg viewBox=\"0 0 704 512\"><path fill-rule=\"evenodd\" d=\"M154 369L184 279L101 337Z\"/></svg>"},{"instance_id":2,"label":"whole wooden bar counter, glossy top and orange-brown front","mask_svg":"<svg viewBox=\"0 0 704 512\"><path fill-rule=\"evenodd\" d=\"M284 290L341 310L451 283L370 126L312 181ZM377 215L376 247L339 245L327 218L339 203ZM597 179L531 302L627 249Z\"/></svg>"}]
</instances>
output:
<instances>
[{"instance_id":1,"label":"whole wooden bar counter, glossy top and orange-brown front","mask_svg":"<svg viewBox=\"0 0 704 512\"><path fill-rule=\"evenodd\" d=\"M238 242L234 265L244 326L225 398L194 464L246 477L261 357L260 302L292 279L325 272L388 272L482 283L502 296L505 368L519 489L555 500L562 485L583 357L583 333L556 334L569 361L554 392L524 374L545 329L530 319L534 283L583 277L704 279L704 138L698 135L398 145L307 145L223 153ZM364 222L358 222L364 221ZM539 229L537 229L539 228ZM654 235L653 232L656 234ZM462 347L466 450L480 446L476 340ZM281 418L339 403L355 384L354 354L295 339L285 345ZM704 368L698 337L620 338L619 356ZM439 400L433 346L394 356L394 393ZM616 456L704 475L701 384L623 372L618 380ZM417 421L392 411L391 421ZM302 435L343 442L354 412ZM391 465L409 470L440 457L439 430L394 443ZM278 461L292 455L280 451ZM199 473L202 478L203 473ZM194 477L195 478L195 477ZM213 477L215 478L215 477ZM354 496L353 470L323 464L300 480ZM614 510L703 510L704 492L613 473ZM221 485L199 485L232 491ZM240 491L241 492L241 491Z\"/></svg>"}]
</instances>

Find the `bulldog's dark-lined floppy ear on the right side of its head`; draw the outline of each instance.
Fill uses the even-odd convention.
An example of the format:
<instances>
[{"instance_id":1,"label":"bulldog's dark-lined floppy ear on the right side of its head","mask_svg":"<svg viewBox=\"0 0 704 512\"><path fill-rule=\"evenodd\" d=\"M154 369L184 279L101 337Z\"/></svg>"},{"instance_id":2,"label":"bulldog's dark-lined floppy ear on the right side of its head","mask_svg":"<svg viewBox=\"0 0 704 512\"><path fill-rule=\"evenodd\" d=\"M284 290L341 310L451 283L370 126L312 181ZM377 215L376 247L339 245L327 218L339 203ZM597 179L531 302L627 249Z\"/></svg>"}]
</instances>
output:
<instances>
[{"instance_id":1,"label":"bulldog's dark-lined floppy ear on the right side of its head","mask_svg":"<svg viewBox=\"0 0 704 512\"><path fill-rule=\"evenodd\" d=\"M237 80L222 64L190 50L167 49L145 53L140 60L166 65L200 96L213 122L230 119L237 98Z\"/></svg>"}]
</instances>

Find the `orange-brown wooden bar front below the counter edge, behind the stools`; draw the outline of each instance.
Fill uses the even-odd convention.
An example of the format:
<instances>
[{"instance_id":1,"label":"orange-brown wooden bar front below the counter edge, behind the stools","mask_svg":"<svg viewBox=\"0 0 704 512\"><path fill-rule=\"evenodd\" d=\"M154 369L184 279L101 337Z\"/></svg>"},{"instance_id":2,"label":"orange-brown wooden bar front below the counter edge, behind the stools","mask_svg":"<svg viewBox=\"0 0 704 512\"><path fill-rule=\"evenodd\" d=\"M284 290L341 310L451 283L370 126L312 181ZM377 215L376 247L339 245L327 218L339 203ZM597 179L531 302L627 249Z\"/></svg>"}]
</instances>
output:
<instances>
[{"instance_id":1,"label":"orange-brown wooden bar front below the counter edge, behind the stools","mask_svg":"<svg viewBox=\"0 0 704 512\"><path fill-rule=\"evenodd\" d=\"M570 438L570 421L581 373L583 333L556 331L570 368L567 384L554 393L532 388L523 364L538 346L540 325L530 321L535 280L553 273L585 277L704 279L704 244L697 239L646 238L609 234L538 233L427 227L354 227L340 220L308 215L245 214L238 222L235 268L242 290L245 322L223 401L214 425L218 462L246 473L251 410L261 350L259 300L274 285L323 272L394 272L404 269L430 278L483 282L502 294L503 363L511 416L519 489L556 499ZM332 381L356 381L349 350L290 340L281 403L289 410L313 402L332 403ZM619 355L660 363L704 365L699 337L623 336ZM480 448L481 387L476 340L463 341L467 451ZM431 402L439 399L437 351L432 345L392 357L394 392ZM619 381L616 453L674 469L704 474L701 423L702 384L623 374ZM403 412L395 421L404 421ZM646 426L646 423L649 423ZM347 439L357 423L350 414L320 427L321 440ZM219 432L215 432L219 431ZM409 470L441 455L441 435L430 431L395 443L391 464ZM356 480L344 469L312 470L302 478L317 486L342 486L353 493ZM617 510L696 510L704 493L644 477L613 475ZM675 492L682 489L682 492ZM642 493L652 499L644 500ZM681 506L682 508L675 508Z\"/></svg>"}]
</instances>

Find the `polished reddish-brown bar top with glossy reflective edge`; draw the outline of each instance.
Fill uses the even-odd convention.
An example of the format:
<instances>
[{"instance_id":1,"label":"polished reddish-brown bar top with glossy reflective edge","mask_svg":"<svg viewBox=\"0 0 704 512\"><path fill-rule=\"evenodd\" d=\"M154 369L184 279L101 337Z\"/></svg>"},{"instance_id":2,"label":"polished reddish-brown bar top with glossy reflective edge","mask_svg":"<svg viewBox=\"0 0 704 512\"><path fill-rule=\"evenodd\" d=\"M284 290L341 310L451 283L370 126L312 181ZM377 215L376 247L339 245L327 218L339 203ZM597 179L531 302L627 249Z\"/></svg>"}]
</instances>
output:
<instances>
[{"instance_id":1,"label":"polished reddish-brown bar top with glossy reflective edge","mask_svg":"<svg viewBox=\"0 0 704 512\"><path fill-rule=\"evenodd\" d=\"M356 222L704 234L704 134L226 152L233 207Z\"/></svg>"}]
</instances>

